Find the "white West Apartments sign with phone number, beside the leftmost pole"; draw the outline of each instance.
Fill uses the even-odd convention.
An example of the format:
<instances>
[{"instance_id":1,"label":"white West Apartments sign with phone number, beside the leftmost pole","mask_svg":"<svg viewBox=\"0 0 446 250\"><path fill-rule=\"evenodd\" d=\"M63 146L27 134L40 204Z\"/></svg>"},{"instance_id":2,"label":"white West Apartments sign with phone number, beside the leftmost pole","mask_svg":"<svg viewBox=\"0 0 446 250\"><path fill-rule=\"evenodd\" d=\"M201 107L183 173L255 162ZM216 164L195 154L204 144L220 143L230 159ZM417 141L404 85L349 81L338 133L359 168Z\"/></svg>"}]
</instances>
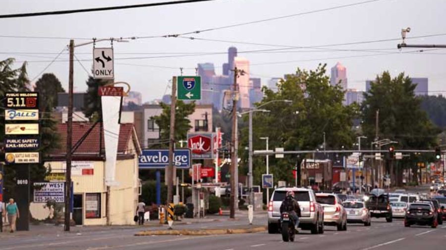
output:
<instances>
[{"instance_id":1,"label":"white West Apartments sign with phone number, beside the leftmost pole","mask_svg":"<svg viewBox=\"0 0 446 250\"><path fill-rule=\"evenodd\" d=\"M46 203L50 200L56 203L65 202L65 182L34 183L34 202Z\"/></svg>"}]
</instances>

